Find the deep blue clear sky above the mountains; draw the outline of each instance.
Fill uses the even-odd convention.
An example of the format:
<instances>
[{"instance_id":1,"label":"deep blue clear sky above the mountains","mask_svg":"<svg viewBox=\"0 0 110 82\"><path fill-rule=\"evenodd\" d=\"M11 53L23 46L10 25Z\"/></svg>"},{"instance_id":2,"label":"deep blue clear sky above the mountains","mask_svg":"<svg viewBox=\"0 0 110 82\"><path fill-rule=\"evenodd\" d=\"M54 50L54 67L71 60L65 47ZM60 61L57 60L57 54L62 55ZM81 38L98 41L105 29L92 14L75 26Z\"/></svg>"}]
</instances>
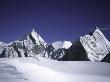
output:
<instances>
[{"instance_id":1,"label":"deep blue clear sky above the mountains","mask_svg":"<svg viewBox=\"0 0 110 82\"><path fill-rule=\"evenodd\" d=\"M0 41L33 27L47 42L73 41L95 26L110 28L109 0L0 0Z\"/></svg>"}]
</instances>

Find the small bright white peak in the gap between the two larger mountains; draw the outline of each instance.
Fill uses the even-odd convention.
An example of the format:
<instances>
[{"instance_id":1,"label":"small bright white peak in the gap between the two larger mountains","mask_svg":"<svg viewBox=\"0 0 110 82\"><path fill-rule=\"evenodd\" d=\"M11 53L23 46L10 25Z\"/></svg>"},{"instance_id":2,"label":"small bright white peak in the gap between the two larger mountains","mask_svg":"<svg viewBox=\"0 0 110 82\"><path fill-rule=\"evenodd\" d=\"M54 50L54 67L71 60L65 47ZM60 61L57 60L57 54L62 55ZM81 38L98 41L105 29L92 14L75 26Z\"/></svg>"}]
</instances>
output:
<instances>
[{"instance_id":1,"label":"small bright white peak in the gap between the two larger mountains","mask_svg":"<svg viewBox=\"0 0 110 82\"><path fill-rule=\"evenodd\" d=\"M72 43L70 41L56 41L54 43L52 43L53 47L55 48L55 50L58 50L60 48L65 48L68 49Z\"/></svg>"}]
</instances>

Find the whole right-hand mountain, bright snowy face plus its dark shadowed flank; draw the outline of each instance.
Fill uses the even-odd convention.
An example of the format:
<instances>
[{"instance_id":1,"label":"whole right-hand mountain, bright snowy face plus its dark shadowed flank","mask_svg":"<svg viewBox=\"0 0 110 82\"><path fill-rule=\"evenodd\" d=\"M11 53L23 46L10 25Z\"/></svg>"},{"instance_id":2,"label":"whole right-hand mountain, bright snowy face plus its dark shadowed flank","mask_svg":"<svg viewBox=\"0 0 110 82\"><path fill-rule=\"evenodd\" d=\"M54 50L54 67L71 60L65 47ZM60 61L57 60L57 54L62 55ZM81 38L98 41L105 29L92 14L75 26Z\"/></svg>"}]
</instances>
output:
<instances>
[{"instance_id":1,"label":"whole right-hand mountain, bright snowy face plus its dark shadowed flank","mask_svg":"<svg viewBox=\"0 0 110 82\"><path fill-rule=\"evenodd\" d=\"M64 61L110 62L110 42L99 28L72 43L61 58Z\"/></svg>"}]
</instances>

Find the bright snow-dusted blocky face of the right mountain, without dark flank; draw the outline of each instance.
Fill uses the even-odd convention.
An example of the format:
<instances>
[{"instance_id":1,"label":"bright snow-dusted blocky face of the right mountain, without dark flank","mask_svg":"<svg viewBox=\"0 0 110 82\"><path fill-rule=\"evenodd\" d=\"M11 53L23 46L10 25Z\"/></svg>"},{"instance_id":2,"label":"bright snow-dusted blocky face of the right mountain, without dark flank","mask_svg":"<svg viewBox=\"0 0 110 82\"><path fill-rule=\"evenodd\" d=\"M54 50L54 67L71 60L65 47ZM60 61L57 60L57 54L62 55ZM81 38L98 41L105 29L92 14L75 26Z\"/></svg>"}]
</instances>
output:
<instances>
[{"instance_id":1,"label":"bright snow-dusted blocky face of the right mountain, without dark flank","mask_svg":"<svg viewBox=\"0 0 110 82\"><path fill-rule=\"evenodd\" d=\"M91 61L101 61L110 52L110 42L99 28L89 35L80 37L80 42Z\"/></svg>"}]
</instances>

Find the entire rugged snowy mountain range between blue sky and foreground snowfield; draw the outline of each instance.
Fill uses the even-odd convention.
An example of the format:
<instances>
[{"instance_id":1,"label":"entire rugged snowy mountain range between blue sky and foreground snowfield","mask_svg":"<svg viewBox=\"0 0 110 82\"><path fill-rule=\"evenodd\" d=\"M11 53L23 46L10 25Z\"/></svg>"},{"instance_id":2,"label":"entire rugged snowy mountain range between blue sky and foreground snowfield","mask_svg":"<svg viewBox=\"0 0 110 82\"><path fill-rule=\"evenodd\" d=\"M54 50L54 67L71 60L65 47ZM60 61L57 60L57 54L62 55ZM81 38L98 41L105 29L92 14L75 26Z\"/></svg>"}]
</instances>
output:
<instances>
[{"instance_id":1,"label":"entire rugged snowy mountain range between blue sky and foreground snowfield","mask_svg":"<svg viewBox=\"0 0 110 82\"><path fill-rule=\"evenodd\" d=\"M41 56L59 61L110 62L110 42L96 28L78 40L46 43L33 29L31 33L9 44L0 42L0 58Z\"/></svg>"}]
</instances>

